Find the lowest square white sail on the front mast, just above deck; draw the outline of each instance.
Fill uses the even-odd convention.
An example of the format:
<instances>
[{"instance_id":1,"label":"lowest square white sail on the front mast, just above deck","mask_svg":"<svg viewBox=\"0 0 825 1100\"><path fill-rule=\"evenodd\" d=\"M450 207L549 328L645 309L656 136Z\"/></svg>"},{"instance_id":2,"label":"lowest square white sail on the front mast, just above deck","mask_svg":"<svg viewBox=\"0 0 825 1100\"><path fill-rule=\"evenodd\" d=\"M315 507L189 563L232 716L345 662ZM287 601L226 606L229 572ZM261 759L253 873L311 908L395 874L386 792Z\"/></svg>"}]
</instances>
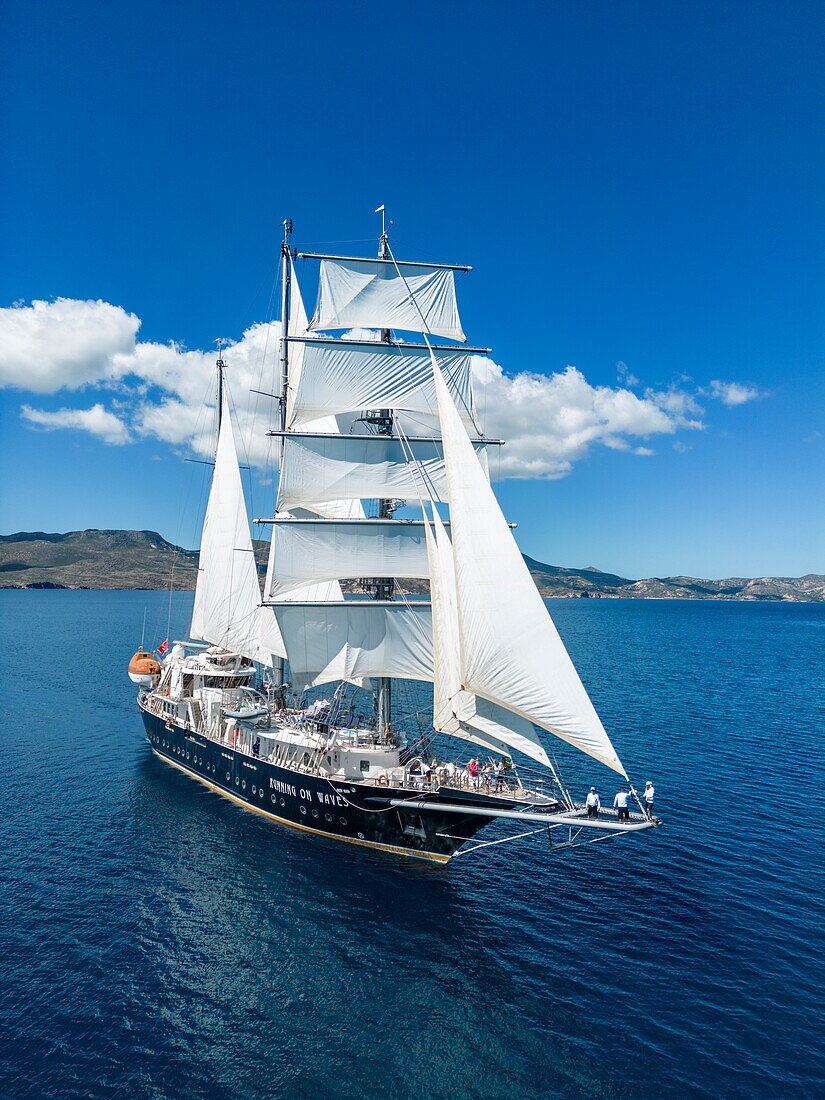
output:
<instances>
[{"instance_id":1,"label":"lowest square white sail on the front mast, just above deck","mask_svg":"<svg viewBox=\"0 0 825 1100\"><path fill-rule=\"evenodd\" d=\"M314 684L364 676L432 680L429 604L274 605L290 672Z\"/></svg>"}]
</instances>

